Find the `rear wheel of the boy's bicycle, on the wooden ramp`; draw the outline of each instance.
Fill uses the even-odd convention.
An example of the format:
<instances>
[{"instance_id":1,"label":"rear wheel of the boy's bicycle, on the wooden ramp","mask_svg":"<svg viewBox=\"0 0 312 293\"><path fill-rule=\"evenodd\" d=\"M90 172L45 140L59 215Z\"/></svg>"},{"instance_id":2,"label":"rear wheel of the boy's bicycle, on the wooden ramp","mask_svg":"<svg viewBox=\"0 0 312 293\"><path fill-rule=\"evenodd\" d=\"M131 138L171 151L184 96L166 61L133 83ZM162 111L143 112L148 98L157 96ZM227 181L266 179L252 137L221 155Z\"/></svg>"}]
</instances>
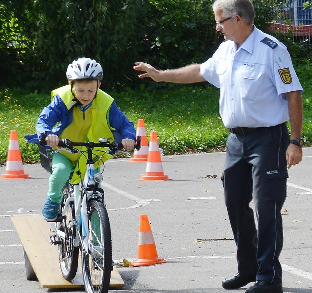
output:
<instances>
[{"instance_id":1,"label":"rear wheel of the boy's bicycle, on the wooden ramp","mask_svg":"<svg viewBox=\"0 0 312 293\"><path fill-rule=\"evenodd\" d=\"M60 207L60 212L64 212L64 215L66 215L66 222L63 220L63 222L59 224L59 230L65 232L66 229L66 239L59 237L60 244L58 245L60 270L64 279L67 281L71 281L75 278L79 260L79 247L74 246L76 226L68 225L69 220L75 219L74 202L71 201L68 206L65 207L66 199L70 195L69 189L69 183L67 182L62 188L63 199Z\"/></svg>"}]
</instances>

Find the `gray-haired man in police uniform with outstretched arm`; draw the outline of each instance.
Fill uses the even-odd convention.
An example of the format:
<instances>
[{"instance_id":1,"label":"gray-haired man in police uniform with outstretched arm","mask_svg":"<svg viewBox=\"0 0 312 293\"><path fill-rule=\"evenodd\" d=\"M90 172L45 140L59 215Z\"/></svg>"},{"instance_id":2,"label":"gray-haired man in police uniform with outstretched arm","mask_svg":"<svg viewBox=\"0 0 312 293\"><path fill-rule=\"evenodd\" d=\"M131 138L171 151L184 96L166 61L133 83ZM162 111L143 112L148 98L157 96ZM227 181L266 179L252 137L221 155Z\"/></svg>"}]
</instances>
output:
<instances>
[{"instance_id":1,"label":"gray-haired man in police uniform with outstretched arm","mask_svg":"<svg viewBox=\"0 0 312 293\"><path fill-rule=\"evenodd\" d=\"M230 132L222 182L238 263L222 286L255 282L246 293L282 293L281 209L287 168L302 160L302 87L286 47L254 26L250 0L216 0L213 10L225 42L206 62L174 70L136 62L134 69L156 82L206 80L220 88L220 115Z\"/></svg>"}]
</instances>

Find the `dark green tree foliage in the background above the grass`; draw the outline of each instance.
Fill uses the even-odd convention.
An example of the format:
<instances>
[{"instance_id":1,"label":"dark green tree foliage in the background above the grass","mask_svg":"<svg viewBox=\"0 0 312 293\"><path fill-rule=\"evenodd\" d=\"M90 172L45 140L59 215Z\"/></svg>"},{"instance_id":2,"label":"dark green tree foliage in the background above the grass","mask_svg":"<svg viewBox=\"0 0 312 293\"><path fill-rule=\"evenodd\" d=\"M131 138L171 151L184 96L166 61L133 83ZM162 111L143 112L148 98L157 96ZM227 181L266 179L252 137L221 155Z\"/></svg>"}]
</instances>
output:
<instances>
[{"instance_id":1,"label":"dark green tree foliage in the background above the grass","mask_svg":"<svg viewBox=\"0 0 312 293\"><path fill-rule=\"evenodd\" d=\"M254 0L267 28L276 0ZM213 0L6 0L0 4L0 70L6 84L40 89L66 82L68 63L100 62L104 86L139 83L132 66L176 68L209 58L222 41ZM3 80L2 80L3 82ZM140 81L141 83L142 81Z\"/></svg>"}]
</instances>

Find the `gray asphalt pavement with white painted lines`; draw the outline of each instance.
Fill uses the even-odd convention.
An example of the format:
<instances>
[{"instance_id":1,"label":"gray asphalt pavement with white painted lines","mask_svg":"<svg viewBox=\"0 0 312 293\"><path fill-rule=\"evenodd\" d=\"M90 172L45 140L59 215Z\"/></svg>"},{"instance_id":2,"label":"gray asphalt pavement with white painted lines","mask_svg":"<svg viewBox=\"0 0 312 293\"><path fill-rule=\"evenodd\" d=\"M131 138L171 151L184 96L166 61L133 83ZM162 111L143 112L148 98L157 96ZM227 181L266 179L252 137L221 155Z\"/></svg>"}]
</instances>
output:
<instances>
[{"instance_id":1,"label":"gray asphalt pavement with white painted lines","mask_svg":"<svg viewBox=\"0 0 312 293\"><path fill-rule=\"evenodd\" d=\"M303 161L289 170L283 207L284 293L312 293L312 148L303 153ZM237 265L220 179L224 157L224 153L163 156L164 174L171 179L167 181L139 180L146 162L123 158L106 163L103 187L113 259L121 263L137 258L140 215L147 214L158 256L167 261L118 267L125 286L111 292L228 292L221 283ZM23 167L32 178L0 179L0 292L84 292L39 288L37 281L26 280L23 248L10 217L41 212L49 173L39 164ZM0 167L0 175L5 171ZM231 293L244 293L245 288Z\"/></svg>"}]
</instances>

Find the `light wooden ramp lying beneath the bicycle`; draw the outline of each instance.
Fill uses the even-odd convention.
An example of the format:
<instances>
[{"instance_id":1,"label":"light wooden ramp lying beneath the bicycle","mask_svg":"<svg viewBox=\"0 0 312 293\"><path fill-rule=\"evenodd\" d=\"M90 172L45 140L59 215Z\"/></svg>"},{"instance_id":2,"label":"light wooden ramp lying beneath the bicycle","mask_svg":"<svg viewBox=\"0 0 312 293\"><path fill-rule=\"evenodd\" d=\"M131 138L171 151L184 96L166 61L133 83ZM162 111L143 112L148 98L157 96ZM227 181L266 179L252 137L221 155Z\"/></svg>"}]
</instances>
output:
<instances>
[{"instance_id":1,"label":"light wooden ramp lying beneath the bicycle","mask_svg":"<svg viewBox=\"0 0 312 293\"><path fill-rule=\"evenodd\" d=\"M13 216L11 220L24 247L27 280L37 279L41 288L81 288L83 286L80 257L76 277L68 282L62 276L58 247L49 242L50 229L54 223L46 222L41 215ZM124 281L114 266L110 287L122 286L124 286Z\"/></svg>"}]
</instances>

